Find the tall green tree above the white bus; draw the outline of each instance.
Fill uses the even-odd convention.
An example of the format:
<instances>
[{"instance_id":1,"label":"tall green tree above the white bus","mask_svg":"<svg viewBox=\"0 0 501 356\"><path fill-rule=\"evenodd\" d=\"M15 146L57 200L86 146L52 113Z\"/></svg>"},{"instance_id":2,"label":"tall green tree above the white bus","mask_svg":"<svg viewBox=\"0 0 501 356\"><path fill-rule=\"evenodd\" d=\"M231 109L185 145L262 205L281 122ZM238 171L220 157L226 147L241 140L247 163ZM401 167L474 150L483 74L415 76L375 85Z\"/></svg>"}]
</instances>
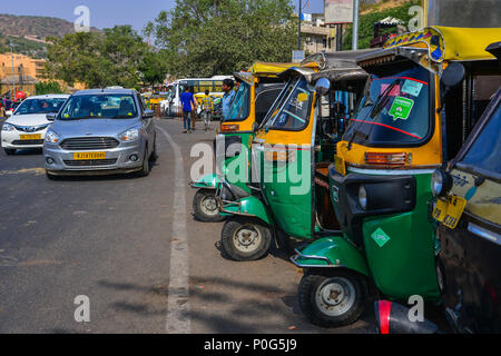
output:
<instances>
[{"instance_id":1,"label":"tall green tree above the white bus","mask_svg":"<svg viewBox=\"0 0 501 356\"><path fill-rule=\"evenodd\" d=\"M212 77L254 61L291 60L296 28L289 0L176 0L146 28L177 77Z\"/></svg>"}]
</instances>

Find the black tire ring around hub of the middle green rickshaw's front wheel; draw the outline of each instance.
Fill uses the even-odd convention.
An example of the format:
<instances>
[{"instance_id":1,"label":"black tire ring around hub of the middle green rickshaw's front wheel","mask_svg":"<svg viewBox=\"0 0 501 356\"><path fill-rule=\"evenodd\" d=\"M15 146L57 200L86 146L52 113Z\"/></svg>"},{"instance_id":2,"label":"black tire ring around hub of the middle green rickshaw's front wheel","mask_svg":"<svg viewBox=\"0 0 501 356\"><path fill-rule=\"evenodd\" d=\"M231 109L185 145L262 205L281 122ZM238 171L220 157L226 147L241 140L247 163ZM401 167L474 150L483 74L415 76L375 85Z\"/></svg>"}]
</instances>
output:
<instances>
[{"instance_id":1,"label":"black tire ring around hub of the middle green rickshaw's front wheel","mask_svg":"<svg viewBox=\"0 0 501 356\"><path fill-rule=\"evenodd\" d=\"M258 231L261 235L261 243L259 245L248 251L242 251L237 248L235 245L234 236L238 230L243 227L250 227ZM237 261L253 261L258 260L263 257L265 257L269 251L269 246L272 245L272 230L259 220L256 219L249 219L249 218L240 218L240 217L233 217L228 221L226 221L225 226L222 230L222 247L223 250L228 255L230 258Z\"/></svg>"}]
</instances>

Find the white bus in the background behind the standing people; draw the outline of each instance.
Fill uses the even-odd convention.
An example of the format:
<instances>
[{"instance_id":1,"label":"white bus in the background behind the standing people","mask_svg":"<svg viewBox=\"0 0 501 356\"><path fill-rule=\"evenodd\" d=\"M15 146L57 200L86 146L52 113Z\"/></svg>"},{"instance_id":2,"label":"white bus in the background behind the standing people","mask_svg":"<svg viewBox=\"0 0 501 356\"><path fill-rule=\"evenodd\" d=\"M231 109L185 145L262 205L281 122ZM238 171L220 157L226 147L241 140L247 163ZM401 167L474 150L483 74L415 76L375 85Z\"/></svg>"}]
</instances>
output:
<instances>
[{"instance_id":1,"label":"white bus in the background behind the standing people","mask_svg":"<svg viewBox=\"0 0 501 356\"><path fill-rule=\"evenodd\" d=\"M181 116L183 106L180 103L180 96L188 87L194 93L204 93L206 90L210 95L223 95L223 80L234 79L232 76L216 76L213 78L186 78L176 80L167 86L169 92L167 100L164 100L160 106L165 116Z\"/></svg>"}]
</instances>

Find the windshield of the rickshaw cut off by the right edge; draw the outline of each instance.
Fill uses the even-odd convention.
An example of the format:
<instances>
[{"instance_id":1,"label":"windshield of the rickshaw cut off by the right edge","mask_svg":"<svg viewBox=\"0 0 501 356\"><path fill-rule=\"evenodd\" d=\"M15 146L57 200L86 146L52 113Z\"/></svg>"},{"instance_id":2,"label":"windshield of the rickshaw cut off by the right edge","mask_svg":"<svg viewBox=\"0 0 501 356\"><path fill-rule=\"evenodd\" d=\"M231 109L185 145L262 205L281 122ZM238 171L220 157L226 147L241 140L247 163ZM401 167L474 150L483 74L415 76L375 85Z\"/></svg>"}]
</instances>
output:
<instances>
[{"instance_id":1,"label":"windshield of the rickshaw cut off by the right edge","mask_svg":"<svg viewBox=\"0 0 501 356\"><path fill-rule=\"evenodd\" d=\"M475 139L462 164L480 168L482 171L501 175L501 105L498 106L482 134Z\"/></svg>"}]
</instances>

